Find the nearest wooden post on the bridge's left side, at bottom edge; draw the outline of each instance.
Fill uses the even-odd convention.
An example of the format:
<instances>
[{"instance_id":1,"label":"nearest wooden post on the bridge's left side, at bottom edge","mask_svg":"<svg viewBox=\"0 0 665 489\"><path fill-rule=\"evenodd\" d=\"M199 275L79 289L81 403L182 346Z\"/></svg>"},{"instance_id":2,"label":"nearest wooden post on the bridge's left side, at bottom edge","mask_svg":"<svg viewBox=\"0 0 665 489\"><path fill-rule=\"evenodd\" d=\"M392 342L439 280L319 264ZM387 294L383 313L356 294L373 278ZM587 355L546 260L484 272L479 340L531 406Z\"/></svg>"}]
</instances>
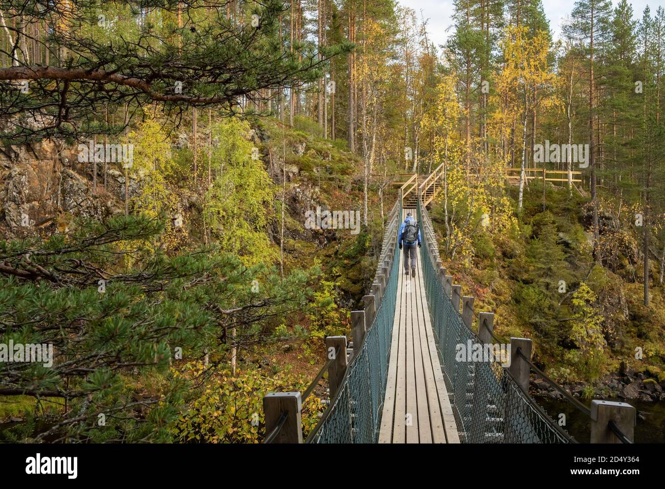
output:
<instances>
[{"instance_id":1,"label":"nearest wooden post on the bridge's left side, at bottom edge","mask_svg":"<svg viewBox=\"0 0 665 489\"><path fill-rule=\"evenodd\" d=\"M282 413L287 413L287 419L273 443L303 442L302 407L303 401L300 393L269 393L263 396L266 434L275 428Z\"/></svg>"}]
</instances>

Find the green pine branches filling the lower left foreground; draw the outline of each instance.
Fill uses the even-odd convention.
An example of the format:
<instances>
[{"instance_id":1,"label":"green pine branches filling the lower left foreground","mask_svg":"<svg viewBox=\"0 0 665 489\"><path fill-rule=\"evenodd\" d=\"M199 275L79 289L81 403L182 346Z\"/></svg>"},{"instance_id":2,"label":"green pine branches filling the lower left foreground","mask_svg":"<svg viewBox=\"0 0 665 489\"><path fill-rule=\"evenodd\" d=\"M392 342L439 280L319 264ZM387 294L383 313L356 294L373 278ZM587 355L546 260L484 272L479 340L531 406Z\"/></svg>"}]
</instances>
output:
<instances>
[{"instance_id":1,"label":"green pine branches filling the lower left foreground","mask_svg":"<svg viewBox=\"0 0 665 489\"><path fill-rule=\"evenodd\" d=\"M146 249L163 230L164 220L120 216L45 241L0 242L0 344L53 345L50 358L11 363L0 347L0 399L65 403L35 441L168 441L193 387L172 363L228 361L231 347L265 341L263 328L305 307L305 273L280 281L215 247L175 257ZM132 387L154 384L154 394Z\"/></svg>"}]
</instances>

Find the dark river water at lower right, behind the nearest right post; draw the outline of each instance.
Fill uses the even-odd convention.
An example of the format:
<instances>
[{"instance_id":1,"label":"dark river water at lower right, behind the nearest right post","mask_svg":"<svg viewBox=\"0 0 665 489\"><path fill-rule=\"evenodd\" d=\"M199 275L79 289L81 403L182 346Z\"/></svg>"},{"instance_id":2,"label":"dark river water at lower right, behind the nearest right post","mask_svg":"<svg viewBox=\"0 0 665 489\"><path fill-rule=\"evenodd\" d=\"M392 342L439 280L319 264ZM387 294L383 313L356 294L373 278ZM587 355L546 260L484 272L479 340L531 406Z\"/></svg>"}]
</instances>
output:
<instances>
[{"instance_id":1,"label":"dark river water at lower right, behind the nearest right post","mask_svg":"<svg viewBox=\"0 0 665 489\"><path fill-rule=\"evenodd\" d=\"M573 407L567 401L557 401L550 397L535 397L554 420L559 419L559 413L566 415L566 426L563 426L580 443L589 443L591 436L591 420L589 416ZM620 399L606 399L606 401L621 401ZM581 401L591 405L590 401ZM629 401L628 404L637 410L637 424L635 425L636 443L665 443L665 401L660 403L644 403Z\"/></svg>"}]
</instances>

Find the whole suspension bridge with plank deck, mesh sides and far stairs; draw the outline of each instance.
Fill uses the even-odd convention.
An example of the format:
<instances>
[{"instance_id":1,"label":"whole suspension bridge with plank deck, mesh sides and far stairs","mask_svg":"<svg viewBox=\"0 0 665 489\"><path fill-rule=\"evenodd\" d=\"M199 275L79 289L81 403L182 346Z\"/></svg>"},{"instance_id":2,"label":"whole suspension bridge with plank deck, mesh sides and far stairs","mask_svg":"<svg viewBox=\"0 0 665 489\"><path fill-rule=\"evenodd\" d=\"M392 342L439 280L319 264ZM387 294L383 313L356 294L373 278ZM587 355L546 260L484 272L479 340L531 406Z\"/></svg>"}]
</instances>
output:
<instances>
[{"instance_id":1,"label":"whole suspension bridge with plank deck, mesh sides and far stairs","mask_svg":"<svg viewBox=\"0 0 665 489\"><path fill-rule=\"evenodd\" d=\"M531 362L530 339L503 343L493 332L493 313L476 313L473 297L453 283L427 210L443 177L440 166L400 183L364 309L351 313L351 338L325 339L328 361L304 393L263 398L265 442L575 443L529 395L531 373L589 417L591 442L632 442L634 407L580 403ZM407 212L416 215L422 234L413 276L402 273L398 248ZM497 352L504 346L507 358L456 355L461 349ZM326 373L328 407L303 438L303 402Z\"/></svg>"}]
</instances>

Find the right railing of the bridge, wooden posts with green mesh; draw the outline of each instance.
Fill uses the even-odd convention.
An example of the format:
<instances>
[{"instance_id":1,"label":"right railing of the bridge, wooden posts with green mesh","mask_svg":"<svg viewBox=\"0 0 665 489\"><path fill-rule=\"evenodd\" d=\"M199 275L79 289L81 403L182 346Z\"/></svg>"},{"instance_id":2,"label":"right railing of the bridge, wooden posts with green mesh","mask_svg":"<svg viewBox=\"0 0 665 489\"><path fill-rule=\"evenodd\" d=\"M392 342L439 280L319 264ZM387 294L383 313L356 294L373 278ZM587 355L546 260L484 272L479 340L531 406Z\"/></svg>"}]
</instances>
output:
<instances>
[{"instance_id":1,"label":"right railing of the bridge, wooden posts with green mesh","mask_svg":"<svg viewBox=\"0 0 665 489\"><path fill-rule=\"evenodd\" d=\"M432 329L460 440L576 442L529 395L529 374L533 370L591 417L591 442L631 442L635 424L632 406L593 401L589 409L531 363L530 339L511 338L509 345L501 344L493 333L494 315L484 312L476 315L473 297L462 297L462 287L454 285L452 276L442 267L432 222L420 199L417 212L424 230L420 252ZM474 317L477 333L473 331Z\"/></svg>"}]
</instances>

